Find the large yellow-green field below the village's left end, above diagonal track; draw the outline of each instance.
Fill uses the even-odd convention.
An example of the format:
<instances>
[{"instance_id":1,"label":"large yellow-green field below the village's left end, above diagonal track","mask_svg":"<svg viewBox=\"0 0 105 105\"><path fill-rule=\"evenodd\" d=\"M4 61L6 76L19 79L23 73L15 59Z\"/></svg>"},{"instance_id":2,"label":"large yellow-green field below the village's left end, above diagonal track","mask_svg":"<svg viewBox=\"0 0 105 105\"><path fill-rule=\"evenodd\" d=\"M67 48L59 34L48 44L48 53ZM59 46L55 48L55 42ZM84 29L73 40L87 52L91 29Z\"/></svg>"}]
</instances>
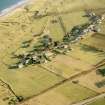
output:
<instances>
[{"instance_id":1,"label":"large yellow-green field below the village's left end, above diagonal track","mask_svg":"<svg viewBox=\"0 0 105 105\"><path fill-rule=\"evenodd\" d=\"M3 64L0 67L0 78L11 86L16 95L24 98L36 95L63 80L38 66L20 70L7 69Z\"/></svg>"}]
</instances>

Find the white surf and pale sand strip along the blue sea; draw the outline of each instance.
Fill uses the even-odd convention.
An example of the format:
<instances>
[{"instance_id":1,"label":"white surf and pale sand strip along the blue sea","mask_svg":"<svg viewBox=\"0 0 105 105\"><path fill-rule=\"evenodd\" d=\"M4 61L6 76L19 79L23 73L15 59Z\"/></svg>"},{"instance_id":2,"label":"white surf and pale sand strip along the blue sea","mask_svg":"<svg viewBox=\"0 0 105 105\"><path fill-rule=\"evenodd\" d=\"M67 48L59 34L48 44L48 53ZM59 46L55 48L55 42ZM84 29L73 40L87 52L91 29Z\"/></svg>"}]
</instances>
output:
<instances>
[{"instance_id":1,"label":"white surf and pale sand strip along the blue sea","mask_svg":"<svg viewBox=\"0 0 105 105\"><path fill-rule=\"evenodd\" d=\"M14 5L0 11L0 18L9 15L9 13L15 11L16 9L18 9L22 6L27 5L29 2L31 2L31 0L22 0L22 1L19 1L18 3L14 4Z\"/></svg>"}]
</instances>

